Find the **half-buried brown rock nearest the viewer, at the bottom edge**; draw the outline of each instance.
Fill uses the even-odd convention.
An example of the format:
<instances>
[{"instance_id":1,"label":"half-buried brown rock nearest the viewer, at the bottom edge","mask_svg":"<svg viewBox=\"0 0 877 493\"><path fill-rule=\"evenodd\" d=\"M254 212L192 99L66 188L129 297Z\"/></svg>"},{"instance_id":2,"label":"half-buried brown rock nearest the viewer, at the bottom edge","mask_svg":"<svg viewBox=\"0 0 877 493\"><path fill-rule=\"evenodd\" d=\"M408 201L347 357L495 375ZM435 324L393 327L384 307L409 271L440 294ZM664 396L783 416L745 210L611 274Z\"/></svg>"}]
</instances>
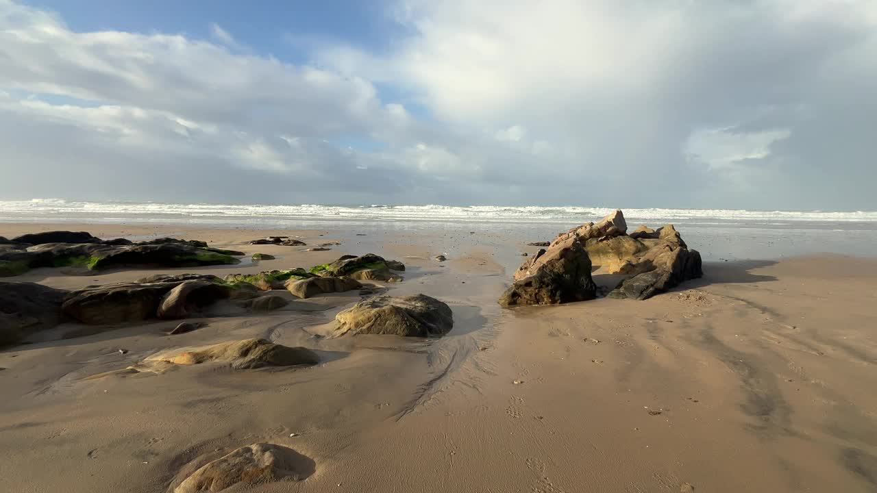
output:
<instances>
[{"instance_id":1,"label":"half-buried brown rock nearest the viewer, at the bottom edge","mask_svg":"<svg viewBox=\"0 0 877 493\"><path fill-rule=\"evenodd\" d=\"M240 447L230 454L200 465L190 474L189 471L184 471L182 478L171 483L168 493L225 491L240 483L256 485L275 481L301 481L311 475L314 469L313 461L291 448L257 443Z\"/></svg>"}]
</instances>

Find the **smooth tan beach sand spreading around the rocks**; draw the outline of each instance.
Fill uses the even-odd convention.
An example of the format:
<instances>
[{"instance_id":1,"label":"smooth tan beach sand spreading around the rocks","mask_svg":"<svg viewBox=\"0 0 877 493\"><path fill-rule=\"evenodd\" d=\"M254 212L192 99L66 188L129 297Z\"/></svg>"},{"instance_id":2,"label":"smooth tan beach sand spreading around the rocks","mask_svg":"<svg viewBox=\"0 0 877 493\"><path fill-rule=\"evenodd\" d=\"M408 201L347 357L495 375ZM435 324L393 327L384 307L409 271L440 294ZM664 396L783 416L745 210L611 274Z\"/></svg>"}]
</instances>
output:
<instances>
[{"instance_id":1,"label":"smooth tan beach sand spreading around the rocks","mask_svg":"<svg viewBox=\"0 0 877 493\"><path fill-rule=\"evenodd\" d=\"M259 441L316 463L302 482L247 489L260 492L877 490L877 261L722 262L645 302L504 310L496 298L521 260L510 256L525 250L520 240L160 225L3 225L0 234L50 229L205 239L281 257L198 269L219 275L383 254L409 266L390 293L439 297L455 327L433 340L312 337L359 299L345 294L198 318L208 325L178 336L164 334L175 323L154 322L7 348L4 492L158 493L198 454ZM246 245L279 233L343 244L318 253ZM432 260L448 250L448 261ZM152 273L38 269L5 280L71 289ZM248 337L311 347L324 363L82 380L160 349Z\"/></svg>"}]
</instances>

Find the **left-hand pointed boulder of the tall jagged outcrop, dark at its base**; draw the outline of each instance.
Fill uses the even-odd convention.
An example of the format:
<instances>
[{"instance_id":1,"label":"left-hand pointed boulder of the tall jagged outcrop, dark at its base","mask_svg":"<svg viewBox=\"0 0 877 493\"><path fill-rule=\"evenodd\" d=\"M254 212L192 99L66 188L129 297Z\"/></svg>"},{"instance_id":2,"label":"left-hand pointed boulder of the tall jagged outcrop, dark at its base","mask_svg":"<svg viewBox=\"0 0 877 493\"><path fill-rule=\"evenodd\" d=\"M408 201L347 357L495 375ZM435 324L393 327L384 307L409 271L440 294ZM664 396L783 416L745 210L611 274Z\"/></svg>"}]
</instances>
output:
<instances>
[{"instance_id":1,"label":"left-hand pointed boulder of the tall jagged outcrop, dark at its base","mask_svg":"<svg viewBox=\"0 0 877 493\"><path fill-rule=\"evenodd\" d=\"M570 235L524 262L499 304L560 304L594 299L591 261L578 240Z\"/></svg>"}]
</instances>

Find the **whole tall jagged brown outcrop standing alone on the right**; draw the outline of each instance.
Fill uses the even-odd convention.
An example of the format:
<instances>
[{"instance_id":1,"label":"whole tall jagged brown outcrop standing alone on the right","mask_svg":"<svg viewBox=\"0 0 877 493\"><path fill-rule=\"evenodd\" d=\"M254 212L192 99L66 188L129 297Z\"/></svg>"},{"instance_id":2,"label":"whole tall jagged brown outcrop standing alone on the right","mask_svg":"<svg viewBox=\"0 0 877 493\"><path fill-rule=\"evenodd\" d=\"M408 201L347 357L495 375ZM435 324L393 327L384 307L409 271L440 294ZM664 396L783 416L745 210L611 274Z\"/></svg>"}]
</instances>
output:
<instances>
[{"instance_id":1,"label":"whole tall jagged brown outcrop standing alone on the right","mask_svg":"<svg viewBox=\"0 0 877 493\"><path fill-rule=\"evenodd\" d=\"M591 269L630 275L611 297L645 299L702 275L701 256L673 225L639 226L627 235L622 211L561 233L517 269L503 305L558 304L595 297Z\"/></svg>"}]
</instances>

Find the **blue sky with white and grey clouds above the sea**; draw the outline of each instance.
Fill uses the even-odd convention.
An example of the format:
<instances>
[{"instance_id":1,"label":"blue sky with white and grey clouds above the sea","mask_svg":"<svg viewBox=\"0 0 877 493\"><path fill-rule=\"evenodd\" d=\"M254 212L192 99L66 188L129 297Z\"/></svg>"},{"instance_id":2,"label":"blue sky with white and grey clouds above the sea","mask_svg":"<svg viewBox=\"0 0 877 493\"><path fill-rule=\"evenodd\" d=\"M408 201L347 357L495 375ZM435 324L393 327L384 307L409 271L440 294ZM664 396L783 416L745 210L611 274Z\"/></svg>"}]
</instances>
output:
<instances>
[{"instance_id":1,"label":"blue sky with white and grey clouds above the sea","mask_svg":"<svg viewBox=\"0 0 877 493\"><path fill-rule=\"evenodd\" d=\"M0 200L877 210L874 0L0 0Z\"/></svg>"}]
</instances>

